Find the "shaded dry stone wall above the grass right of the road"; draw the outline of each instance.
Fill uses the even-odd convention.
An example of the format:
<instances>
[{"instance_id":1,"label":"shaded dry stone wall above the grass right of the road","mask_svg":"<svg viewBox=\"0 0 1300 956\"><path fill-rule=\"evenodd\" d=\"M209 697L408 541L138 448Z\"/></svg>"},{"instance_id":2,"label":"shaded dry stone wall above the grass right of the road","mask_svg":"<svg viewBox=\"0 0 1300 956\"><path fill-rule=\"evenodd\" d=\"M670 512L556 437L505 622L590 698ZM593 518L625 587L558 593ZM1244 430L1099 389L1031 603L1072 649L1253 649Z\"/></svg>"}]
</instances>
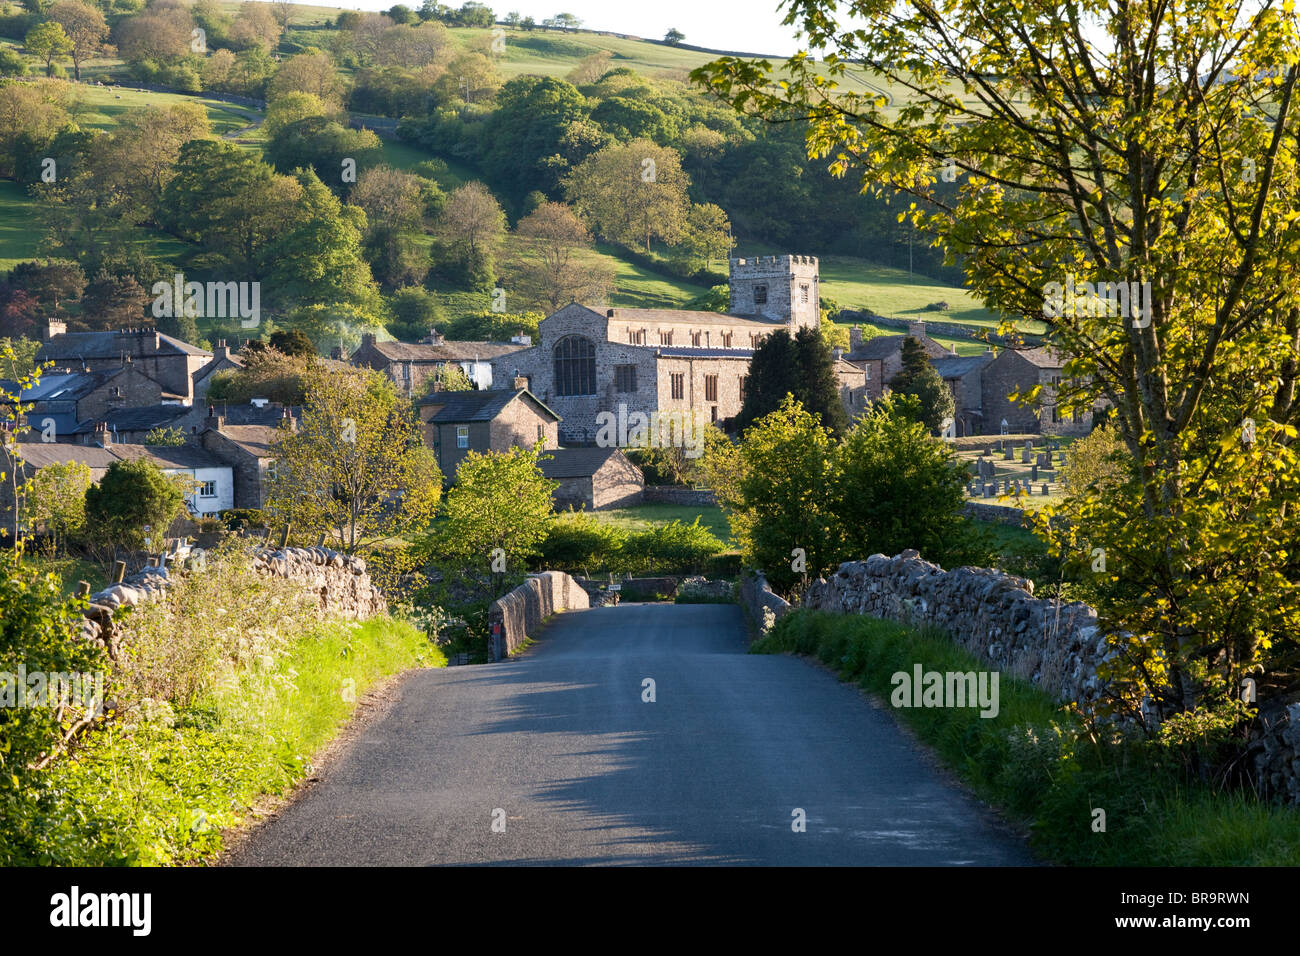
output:
<instances>
[{"instance_id":1,"label":"shaded dry stone wall above the grass right of the road","mask_svg":"<svg viewBox=\"0 0 1300 956\"><path fill-rule=\"evenodd\" d=\"M840 564L803 596L809 610L932 626L991 667L1061 701L1095 701L1097 665L1114 652L1086 604L1034 597L1034 583L985 567L944 571L907 550Z\"/></svg>"}]
</instances>

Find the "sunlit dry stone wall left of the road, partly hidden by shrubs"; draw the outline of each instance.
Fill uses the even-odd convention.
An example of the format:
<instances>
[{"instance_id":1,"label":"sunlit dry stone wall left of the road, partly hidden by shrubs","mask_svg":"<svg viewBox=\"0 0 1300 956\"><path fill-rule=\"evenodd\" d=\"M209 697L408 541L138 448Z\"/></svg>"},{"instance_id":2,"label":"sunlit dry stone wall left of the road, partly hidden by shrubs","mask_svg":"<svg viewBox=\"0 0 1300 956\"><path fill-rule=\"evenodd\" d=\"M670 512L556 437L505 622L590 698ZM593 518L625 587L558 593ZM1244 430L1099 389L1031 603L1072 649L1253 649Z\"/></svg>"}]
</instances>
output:
<instances>
[{"instance_id":1,"label":"sunlit dry stone wall left of the road, partly hidden by shrubs","mask_svg":"<svg viewBox=\"0 0 1300 956\"><path fill-rule=\"evenodd\" d=\"M188 550L181 550L170 555L176 562L172 568L146 567L121 584L91 594L81 636L103 644L117 659L121 628L113 622L113 611L161 597L172 587L174 575L181 574L177 566L188 554ZM384 594L370 583L365 562L329 548L261 549L254 554L252 567L260 574L300 583L320 598L322 614L364 620L387 610Z\"/></svg>"}]
</instances>

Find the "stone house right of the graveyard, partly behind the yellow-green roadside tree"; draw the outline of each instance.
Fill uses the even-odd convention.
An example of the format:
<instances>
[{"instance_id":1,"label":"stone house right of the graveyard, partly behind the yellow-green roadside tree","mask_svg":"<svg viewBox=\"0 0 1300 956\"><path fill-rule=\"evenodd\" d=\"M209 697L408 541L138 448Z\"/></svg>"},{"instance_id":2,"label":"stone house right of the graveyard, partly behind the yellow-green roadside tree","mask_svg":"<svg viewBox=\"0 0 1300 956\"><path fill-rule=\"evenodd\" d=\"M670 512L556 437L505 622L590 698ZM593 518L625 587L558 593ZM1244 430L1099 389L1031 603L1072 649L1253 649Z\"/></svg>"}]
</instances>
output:
<instances>
[{"instance_id":1,"label":"stone house right of the graveyard, partly behind the yellow-green roadside tree","mask_svg":"<svg viewBox=\"0 0 1300 956\"><path fill-rule=\"evenodd\" d=\"M1043 434L1087 434L1092 431L1092 412L1062 415L1056 398L1061 389L1066 356L1049 347L1004 349L983 371L984 421L988 433L996 434L1006 421L1008 432L1041 432ZM1041 385L1034 405L1011 402L1008 395Z\"/></svg>"}]
</instances>

